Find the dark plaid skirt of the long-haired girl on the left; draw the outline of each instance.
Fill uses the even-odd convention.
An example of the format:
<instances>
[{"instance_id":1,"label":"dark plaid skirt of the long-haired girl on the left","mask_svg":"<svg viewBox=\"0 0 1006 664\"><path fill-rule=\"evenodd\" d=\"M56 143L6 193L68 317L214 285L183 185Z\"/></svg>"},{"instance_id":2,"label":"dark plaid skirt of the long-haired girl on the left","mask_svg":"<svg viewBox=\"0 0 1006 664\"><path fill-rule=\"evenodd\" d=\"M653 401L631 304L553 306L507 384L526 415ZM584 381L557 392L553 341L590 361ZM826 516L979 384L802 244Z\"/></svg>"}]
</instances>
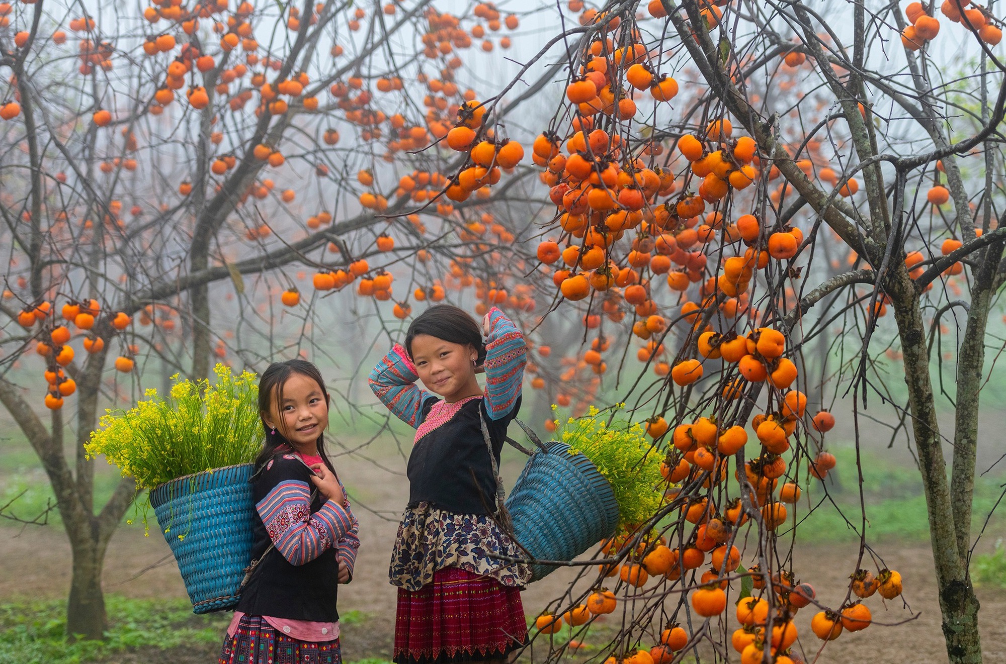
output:
<instances>
[{"instance_id":1,"label":"dark plaid skirt of the long-haired girl on the left","mask_svg":"<svg viewBox=\"0 0 1006 664\"><path fill-rule=\"evenodd\" d=\"M339 640L291 639L259 616L244 616L224 636L218 664L342 664Z\"/></svg>"}]
</instances>

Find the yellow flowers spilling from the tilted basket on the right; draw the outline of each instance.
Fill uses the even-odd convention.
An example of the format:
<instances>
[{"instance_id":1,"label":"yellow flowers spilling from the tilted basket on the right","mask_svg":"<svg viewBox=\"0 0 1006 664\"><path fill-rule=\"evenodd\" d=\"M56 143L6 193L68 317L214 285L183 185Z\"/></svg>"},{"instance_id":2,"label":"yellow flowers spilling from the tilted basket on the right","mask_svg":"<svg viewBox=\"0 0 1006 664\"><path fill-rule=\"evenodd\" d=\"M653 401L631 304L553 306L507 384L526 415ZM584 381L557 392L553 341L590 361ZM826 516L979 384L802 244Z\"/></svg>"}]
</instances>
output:
<instances>
[{"instance_id":1,"label":"yellow flowers spilling from the tilted basket on the right","mask_svg":"<svg viewBox=\"0 0 1006 664\"><path fill-rule=\"evenodd\" d=\"M569 418L557 440L569 446L569 454L590 459L612 485L619 504L619 525L642 523L660 507L664 483L660 462L664 455L647 440L639 424L610 418L592 405L583 417Z\"/></svg>"}]
</instances>

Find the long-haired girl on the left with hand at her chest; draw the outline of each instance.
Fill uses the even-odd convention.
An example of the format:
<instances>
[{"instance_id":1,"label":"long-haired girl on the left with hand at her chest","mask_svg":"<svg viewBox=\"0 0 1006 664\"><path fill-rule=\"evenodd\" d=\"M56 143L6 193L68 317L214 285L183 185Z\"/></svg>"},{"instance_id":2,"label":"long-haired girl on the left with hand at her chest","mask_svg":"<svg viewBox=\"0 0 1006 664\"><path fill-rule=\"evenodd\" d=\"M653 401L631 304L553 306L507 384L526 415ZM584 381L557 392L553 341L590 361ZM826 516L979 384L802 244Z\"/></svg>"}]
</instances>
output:
<instances>
[{"instance_id":1,"label":"long-haired girl on the left with hand at her chest","mask_svg":"<svg viewBox=\"0 0 1006 664\"><path fill-rule=\"evenodd\" d=\"M276 362L259 383L266 442L255 462L253 565L219 664L339 664L338 585L359 547L325 455L329 395L318 368ZM275 549L275 550L274 550Z\"/></svg>"}]
</instances>

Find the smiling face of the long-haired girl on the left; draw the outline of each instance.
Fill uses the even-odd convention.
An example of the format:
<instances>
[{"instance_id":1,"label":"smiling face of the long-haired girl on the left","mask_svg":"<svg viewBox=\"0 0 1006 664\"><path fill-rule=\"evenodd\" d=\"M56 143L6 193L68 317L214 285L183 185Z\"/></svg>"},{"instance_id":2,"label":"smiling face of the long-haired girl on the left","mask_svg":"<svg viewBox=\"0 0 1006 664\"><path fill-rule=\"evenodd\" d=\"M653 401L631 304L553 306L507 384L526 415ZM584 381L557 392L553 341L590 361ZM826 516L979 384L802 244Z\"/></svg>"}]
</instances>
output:
<instances>
[{"instance_id":1,"label":"smiling face of the long-haired girl on the left","mask_svg":"<svg viewBox=\"0 0 1006 664\"><path fill-rule=\"evenodd\" d=\"M283 395L273 394L270 429L276 429L302 454L318 454L318 437L328 428L328 398L321 385L303 373L292 373L283 383ZM265 413L264 413L265 414Z\"/></svg>"}]
</instances>

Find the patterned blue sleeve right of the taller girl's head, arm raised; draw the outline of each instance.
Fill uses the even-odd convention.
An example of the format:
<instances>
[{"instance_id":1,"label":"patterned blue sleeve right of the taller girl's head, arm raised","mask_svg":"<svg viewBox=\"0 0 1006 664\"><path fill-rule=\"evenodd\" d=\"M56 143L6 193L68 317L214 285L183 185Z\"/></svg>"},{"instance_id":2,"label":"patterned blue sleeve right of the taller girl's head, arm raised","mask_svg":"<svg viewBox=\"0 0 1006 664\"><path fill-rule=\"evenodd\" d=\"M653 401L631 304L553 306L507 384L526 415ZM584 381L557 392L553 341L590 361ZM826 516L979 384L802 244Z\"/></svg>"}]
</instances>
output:
<instances>
[{"instance_id":1,"label":"patterned blue sleeve right of the taller girl's head, arm raised","mask_svg":"<svg viewBox=\"0 0 1006 664\"><path fill-rule=\"evenodd\" d=\"M524 335L506 314L493 307L489 311L489 337L486 340L485 402L493 420L500 420L513 410L524 381L527 345Z\"/></svg>"}]
</instances>

